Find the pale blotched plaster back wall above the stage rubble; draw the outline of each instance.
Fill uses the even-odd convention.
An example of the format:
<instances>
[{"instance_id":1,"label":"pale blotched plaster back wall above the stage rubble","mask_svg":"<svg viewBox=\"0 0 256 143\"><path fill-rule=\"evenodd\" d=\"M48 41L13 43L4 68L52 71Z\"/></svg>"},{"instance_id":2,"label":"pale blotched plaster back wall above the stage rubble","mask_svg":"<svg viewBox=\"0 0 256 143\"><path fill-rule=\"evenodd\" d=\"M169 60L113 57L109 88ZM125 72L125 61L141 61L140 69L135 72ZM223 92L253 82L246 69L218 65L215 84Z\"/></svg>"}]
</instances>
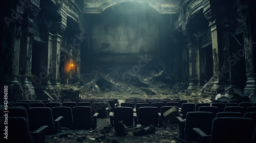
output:
<instances>
[{"instance_id":1,"label":"pale blotched plaster back wall above the stage rubble","mask_svg":"<svg viewBox=\"0 0 256 143\"><path fill-rule=\"evenodd\" d=\"M120 4L93 16L93 52L102 54L97 60L127 62L134 58L121 54L159 54L159 16L153 8L138 3Z\"/></svg>"}]
</instances>

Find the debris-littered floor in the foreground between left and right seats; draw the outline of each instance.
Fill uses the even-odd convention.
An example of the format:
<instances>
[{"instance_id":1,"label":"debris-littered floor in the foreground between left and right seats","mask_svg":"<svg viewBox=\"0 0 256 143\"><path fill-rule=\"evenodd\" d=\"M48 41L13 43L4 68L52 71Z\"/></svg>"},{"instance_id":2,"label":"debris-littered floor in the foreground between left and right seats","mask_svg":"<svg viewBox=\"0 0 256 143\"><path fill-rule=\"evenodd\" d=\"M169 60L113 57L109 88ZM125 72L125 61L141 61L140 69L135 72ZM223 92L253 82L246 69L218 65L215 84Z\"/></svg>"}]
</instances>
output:
<instances>
[{"instance_id":1,"label":"debris-littered floor in the foreground between left and right seats","mask_svg":"<svg viewBox=\"0 0 256 143\"><path fill-rule=\"evenodd\" d=\"M178 136L178 125L171 125L166 129L156 128L155 133L143 136L134 136L134 129L129 129L129 134L125 136L117 136L114 128L112 128L110 133L101 133L103 127L109 125L109 118L99 118L95 131L61 130L59 134L47 136L46 142L180 142L175 138L175 136Z\"/></svg>"}]
</instances>

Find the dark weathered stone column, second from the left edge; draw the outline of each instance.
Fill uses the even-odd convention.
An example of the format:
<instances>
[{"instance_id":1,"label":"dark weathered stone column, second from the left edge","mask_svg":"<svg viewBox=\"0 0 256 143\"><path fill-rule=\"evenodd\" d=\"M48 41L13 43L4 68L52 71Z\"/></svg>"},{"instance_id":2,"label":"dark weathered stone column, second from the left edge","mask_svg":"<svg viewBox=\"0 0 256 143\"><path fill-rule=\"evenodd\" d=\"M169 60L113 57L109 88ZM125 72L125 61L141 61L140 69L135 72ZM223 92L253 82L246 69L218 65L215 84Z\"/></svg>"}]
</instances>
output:
<instances>
[{"instance_id":1,"label":"dark weathered stone column, second from the left edge","mask_svg":"<svg viewBox=\"0 0 256 143\"><path fill-rule=\"evenodd\" d=\"M20 86L23 88L26 100L35 100L35 91L32 86L34 77L31 75L33 35L37 29L36 16L39 12L39 1L33 1L24 14L22 38L19 50Z\"/></svg>"}]
</instances>

